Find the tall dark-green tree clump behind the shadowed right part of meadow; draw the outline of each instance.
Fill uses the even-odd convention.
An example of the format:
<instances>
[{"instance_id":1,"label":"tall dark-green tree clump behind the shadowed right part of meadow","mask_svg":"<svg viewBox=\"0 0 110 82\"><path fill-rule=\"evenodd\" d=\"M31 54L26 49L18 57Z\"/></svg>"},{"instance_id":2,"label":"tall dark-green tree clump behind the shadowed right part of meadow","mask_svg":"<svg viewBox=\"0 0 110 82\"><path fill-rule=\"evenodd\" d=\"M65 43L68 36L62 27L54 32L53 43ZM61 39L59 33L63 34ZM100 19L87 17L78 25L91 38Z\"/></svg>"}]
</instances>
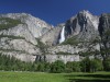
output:
<instances>
[{"instance_id":1,"label":"tall dark-green tree clump behind the shadowed right part of meadow","mask_svg":"<svg viewBox=\"0 0 110 82\"><path fill-rule=\"evenodd\" d=\"M87 57L80 61L80 66L82 72L96 72L103 70L102 60L97 58L89 59Z\"/></svg>"}]
</instances>

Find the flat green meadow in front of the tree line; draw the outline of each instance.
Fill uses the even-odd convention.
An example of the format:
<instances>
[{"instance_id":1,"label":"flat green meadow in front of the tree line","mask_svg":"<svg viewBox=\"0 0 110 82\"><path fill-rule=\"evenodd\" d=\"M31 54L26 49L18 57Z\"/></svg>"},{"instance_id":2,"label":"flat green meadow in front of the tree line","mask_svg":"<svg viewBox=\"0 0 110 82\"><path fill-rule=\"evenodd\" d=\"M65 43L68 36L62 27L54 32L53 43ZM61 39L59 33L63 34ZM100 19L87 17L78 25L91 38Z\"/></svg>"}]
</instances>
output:
<instances>
[{"instance_id":1,"label":"flat green meadow in front of the tree line","mask_svg":"<svg viewBox=\"0 0 110 82\"><path fill-rule=\"evenodd\" d=\"M97 73L0 72L0 82L110 82L110 72L97 72Z\"/></svg>"}]
</instances>

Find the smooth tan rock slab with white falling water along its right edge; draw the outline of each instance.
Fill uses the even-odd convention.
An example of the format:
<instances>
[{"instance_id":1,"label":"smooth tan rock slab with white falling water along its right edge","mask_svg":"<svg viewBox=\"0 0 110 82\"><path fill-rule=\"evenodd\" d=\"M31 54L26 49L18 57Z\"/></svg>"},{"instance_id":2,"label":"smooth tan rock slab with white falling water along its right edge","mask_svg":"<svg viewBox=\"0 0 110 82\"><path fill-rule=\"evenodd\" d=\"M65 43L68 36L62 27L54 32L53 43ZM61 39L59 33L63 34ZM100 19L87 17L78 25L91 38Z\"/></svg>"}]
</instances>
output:
<instances>
[{"instance_id":1,"label":"smooth tan rock slab with white falling water along its right edge","mask_svg":"<svg viewBox=\"0 0 110 82\"><path fill-rule=\"evenodd\" d=\"M65 23L58 24L56 27L50 30L46 34L44 34L42 37L40 37L41 42L48 46L55 46L59 44L59 40L62 39L61 36L63 36L63 42L65 40ZM63 32L63 34L62 34Z\"/></svg>"}]
</instances>

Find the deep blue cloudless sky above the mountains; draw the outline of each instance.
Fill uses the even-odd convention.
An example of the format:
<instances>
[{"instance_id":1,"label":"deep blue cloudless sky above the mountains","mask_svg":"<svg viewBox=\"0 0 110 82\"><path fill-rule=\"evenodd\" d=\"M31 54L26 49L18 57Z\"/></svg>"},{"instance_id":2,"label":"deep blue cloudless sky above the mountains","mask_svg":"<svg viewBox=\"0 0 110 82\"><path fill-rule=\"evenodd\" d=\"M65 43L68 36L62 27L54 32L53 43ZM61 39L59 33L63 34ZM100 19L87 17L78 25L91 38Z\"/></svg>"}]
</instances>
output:
<instances>
[{"instance_id":1,"label":"deep blue cloudless sky above the mountains","mask_svg":"<svg viewBox=\"0 0 110 82\"><path fill-rule=\"evenodd\" d=\"M110 12L110 0L0 0L0 13L30 13L50 24L65 22L81 10Z\"/></svg>"}]
</instances>

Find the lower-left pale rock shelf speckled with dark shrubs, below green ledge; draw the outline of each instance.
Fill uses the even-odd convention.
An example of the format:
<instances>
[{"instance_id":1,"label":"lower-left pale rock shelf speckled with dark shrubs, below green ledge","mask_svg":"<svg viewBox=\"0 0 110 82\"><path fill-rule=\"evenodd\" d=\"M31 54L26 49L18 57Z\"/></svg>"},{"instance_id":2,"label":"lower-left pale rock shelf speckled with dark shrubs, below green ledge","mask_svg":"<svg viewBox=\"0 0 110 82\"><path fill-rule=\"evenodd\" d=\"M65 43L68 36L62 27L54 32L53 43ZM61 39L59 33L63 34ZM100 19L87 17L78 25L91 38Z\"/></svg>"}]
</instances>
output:
<instances>
[{"instance_id":1,"label":"lower-left pale rock shelf speckled with dark shrubs, below green ledge","mask_svg":"<svg viewBox=\"0 0 110 82\"><path fill-rule=\"evenodd\" d=\"M11 36L12 37L12 36ZM24 51L25 54L36 55L40 54L40 49L22 38L15 37L2 37L0 38L0 49L1 50L20 50Z\"/></svg>"}]
</instances>

